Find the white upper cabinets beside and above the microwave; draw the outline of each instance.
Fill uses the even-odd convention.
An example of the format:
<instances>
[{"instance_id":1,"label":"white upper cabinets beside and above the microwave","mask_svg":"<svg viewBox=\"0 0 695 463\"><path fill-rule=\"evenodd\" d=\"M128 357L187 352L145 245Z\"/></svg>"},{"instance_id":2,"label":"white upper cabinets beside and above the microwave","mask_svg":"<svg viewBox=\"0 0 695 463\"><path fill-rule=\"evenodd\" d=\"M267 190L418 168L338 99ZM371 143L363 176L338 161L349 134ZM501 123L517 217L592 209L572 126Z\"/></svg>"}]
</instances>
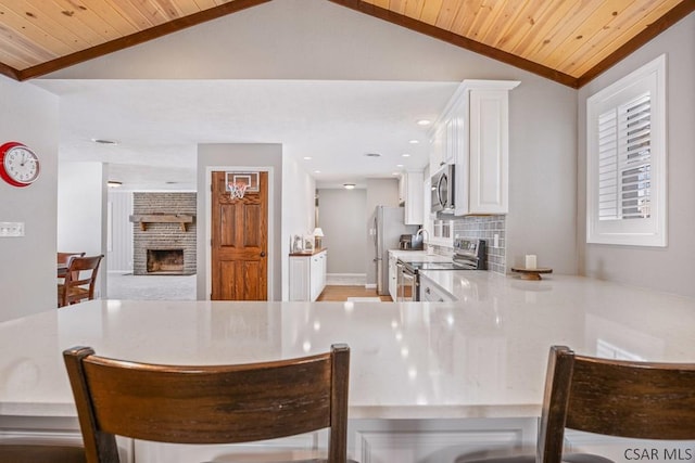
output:
<instances>
[{"instance_id":1,"label":"white upper cabinets beside and above the microwave","mask_svg":"<svg viewBox=\"0 0 695 463\"><path fill-rule=\"evenodd\" d=\"M464 80L430 133L430 171L455 165L454 214L509 211L509 90L519 81Z\"/></svg>"}]
</instances>

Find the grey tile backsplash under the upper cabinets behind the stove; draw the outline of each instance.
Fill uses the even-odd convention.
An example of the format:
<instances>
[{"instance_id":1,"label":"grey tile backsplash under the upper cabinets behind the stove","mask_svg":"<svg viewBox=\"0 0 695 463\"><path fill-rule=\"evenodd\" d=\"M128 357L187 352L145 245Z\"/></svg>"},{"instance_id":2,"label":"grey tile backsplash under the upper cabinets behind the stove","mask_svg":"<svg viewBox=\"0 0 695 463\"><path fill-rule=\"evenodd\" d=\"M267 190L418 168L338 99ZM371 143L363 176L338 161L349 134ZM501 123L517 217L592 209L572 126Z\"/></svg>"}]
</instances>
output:
<instances>
[{"instance_id":1,"label":"grey tile backsplash under the upper cabinets behind the stove","mask_svg":"<svg viewBox=\"0 0 695 463\"><path fill-rule=\"evenodd\" d=\"M496 246L495 235L497 235ZM488 270L495 273L506 273L505 244L507 236L505 216L456 217L454 218L454 236L485 240Z\"/></svg>"}]
</instances>

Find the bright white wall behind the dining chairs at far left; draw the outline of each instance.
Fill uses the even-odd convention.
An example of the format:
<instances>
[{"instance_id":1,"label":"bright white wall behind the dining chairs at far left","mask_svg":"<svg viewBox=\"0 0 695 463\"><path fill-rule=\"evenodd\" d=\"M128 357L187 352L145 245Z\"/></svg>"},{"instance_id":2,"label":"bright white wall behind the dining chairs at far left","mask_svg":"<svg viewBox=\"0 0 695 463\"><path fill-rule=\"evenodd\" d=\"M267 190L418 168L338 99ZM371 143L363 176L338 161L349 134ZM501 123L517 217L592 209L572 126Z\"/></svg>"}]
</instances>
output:
<instances>
[{"instance_id":1,"label":"bright white wall behind the dining chairs at far left","mask_svg":"<svg viewBox=\"0 0 695 463\"><path fill-rule=\"evenodd\" d=\"M102 254L94 296L106 295L106 165L61 163L58 168L58 249Z\"/></svg>"}]
</instances>

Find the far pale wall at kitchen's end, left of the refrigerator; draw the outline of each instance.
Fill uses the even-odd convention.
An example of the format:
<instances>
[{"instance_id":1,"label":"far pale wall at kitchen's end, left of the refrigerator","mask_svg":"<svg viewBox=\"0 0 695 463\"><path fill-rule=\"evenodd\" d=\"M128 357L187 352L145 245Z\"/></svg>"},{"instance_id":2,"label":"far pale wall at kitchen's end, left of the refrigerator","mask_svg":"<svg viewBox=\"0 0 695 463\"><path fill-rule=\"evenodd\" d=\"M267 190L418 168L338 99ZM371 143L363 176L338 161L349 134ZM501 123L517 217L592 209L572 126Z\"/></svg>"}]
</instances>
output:
<instances>
[{"instance_id":1,"label":"far pale wall at kitchen's end, left of the refrigerator","mask_svg":"<svg viewBox=\"0 0 695 463\"><path fill-rule=\"evenodd\" d=\"M319 226L326 235L331 274L366 274L365 217L367 192L364 189L319 189Z\"/></svg>"}]
</instances>

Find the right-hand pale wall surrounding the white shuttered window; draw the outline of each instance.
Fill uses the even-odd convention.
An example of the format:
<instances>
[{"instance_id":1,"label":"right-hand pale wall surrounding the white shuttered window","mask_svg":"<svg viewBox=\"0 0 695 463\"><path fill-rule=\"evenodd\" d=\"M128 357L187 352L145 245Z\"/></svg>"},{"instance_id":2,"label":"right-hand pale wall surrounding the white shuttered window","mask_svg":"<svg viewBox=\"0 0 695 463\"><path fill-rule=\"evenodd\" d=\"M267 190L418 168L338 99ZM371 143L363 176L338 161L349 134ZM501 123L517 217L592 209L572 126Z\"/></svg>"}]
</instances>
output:
<instances>
[{"instance_id":1,"label":"right-hand pale wall surrounding the white shuttered window","mask_svg":"<svg viewBox=\"0 0 695 463\"><path fill-rule=\"evenodd\" d=\"M668 246L585 244L586 99L662 53L667 55ZM579 91L578 143L582 272L603 280L695 296L695 13Z\"/></svg>"}]
</instances>

